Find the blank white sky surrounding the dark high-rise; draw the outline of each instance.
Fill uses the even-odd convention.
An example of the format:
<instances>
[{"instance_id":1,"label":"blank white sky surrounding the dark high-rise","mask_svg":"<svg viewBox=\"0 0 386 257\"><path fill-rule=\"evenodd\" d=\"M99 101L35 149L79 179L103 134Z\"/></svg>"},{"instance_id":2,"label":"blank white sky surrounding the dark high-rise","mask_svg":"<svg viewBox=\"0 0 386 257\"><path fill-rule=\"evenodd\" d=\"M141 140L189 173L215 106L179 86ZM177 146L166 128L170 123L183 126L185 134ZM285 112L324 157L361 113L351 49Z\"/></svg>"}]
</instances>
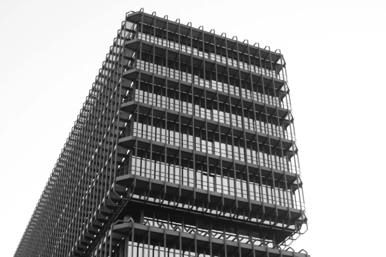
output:
<instances>
[{"instance_id":1,"label":"blank white sky surrounding the dark high-rise","mask_svg":"<svg viewBox=\"0 0 386 257\"><path fill-rule=\"evenodd\" d=\"M1 256L13 256L105 54L130 10L281 49L313 257L385 252L382 1L0 2Z\"/></svg>"}]
</instances>

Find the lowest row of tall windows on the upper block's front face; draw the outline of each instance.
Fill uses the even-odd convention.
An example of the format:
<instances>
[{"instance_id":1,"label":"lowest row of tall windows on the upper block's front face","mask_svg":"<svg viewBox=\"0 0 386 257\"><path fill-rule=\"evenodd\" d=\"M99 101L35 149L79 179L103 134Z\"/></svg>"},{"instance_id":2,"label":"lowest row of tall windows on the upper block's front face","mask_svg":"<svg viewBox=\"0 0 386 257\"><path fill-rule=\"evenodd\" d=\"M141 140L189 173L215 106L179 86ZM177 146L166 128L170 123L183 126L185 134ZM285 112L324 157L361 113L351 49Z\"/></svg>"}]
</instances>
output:
<instances>
[{"instance_id":1,"label":"lowest row of tall windows on the upper block's front face","mask_svg":"<svg viewBox=\"0 0 386 257\"><path fill-rule=\"evenodd\" d=\"M161 160L135 157L135 153L133 155L132 165L120 167L117 176L134 174L212 192L236 195L295 209L301 209L301 207L304 209L301 189L295 191L291 187L285 188L285 185L279 181L276 183L276 187L273 187L270 180L260 180L260 177L254 176L250 177L248 182L245 177L241 176L240 171L233 169L221 170L220 166L197 164L193 168L192 161L188 161L187 166L179 166ZM294 187L297 187L297 185L294 184Z\"/></svg>"}]
</instances>

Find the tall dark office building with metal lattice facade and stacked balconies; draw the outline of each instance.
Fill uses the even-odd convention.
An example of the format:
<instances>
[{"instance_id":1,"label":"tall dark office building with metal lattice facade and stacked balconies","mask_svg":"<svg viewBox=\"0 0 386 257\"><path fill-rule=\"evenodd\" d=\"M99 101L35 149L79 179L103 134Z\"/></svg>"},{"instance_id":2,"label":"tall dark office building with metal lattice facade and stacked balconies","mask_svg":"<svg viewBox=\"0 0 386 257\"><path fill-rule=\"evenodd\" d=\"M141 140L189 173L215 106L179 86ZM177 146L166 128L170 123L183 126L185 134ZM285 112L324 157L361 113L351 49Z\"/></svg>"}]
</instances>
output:
<instances>
[{"instance_id":1,"label":"tall dark office building with metal lattice facade and stacked balconies","mask_svg":"<svg viewBox=\"0 0 386 257\"><path fill-rule=\"evenodd\" d=\"M15 257L307 257L285 62L129 12Z\"/></svg>"}]
</instances>

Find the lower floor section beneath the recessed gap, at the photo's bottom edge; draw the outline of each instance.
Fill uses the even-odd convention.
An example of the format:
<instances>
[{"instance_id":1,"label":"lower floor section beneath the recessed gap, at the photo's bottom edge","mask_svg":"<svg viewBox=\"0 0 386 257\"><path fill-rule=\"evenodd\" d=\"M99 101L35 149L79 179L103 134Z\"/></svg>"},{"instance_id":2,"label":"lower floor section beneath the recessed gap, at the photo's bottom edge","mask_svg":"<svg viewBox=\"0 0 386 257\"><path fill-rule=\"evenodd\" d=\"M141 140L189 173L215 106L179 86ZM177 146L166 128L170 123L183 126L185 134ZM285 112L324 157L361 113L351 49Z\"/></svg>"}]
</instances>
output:
<instances>
[{"instance_id":1,"label":"lower floor section beneath the recessed gap, at the photo's bottom edge","mask_svg":"<svg viewBox=\"0 0 386 257\"><path fill-rule=\"evenodd\" d=\"M225 236L226 233L224 233ZM255 245L236 236L217 238L172 227L118 221L92 253L93 257L310 257L302 253Z\"/></svg>"}]
</instances>

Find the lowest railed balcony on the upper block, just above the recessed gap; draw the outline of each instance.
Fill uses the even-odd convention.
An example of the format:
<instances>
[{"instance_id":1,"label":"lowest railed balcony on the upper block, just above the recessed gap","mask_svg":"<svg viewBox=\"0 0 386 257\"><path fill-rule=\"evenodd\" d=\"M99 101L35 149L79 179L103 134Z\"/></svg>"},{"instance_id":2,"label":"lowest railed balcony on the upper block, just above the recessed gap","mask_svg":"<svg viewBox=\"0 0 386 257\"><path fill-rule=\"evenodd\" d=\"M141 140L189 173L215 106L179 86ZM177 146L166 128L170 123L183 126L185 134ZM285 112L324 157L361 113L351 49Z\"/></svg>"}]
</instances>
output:
<instances>
[{"instance_id":1,"label":"lowest railed balcony on the upper block, just above the recessed gap","mask_svg":"<svg viewBox=\"0 0 386 257\"><path fill-rule=\"evenodd\" d=\"M152 168L145 168L142 166L124 166L118 168L116 177L117 181L119 181L123 179L119 177L125 175L137 175L161 182L164 181L173 183L175 184L173 187L182 185L186 186L184 187L186 189L190 188L193 190L193 188L195 188L198 190L197 193L206 193L209 190L213 192L213 195L216 195L216 193L222 193L224 194L224 197L229 199L235 199L235 197L244 198L243 200L240 200L243 202L248 202L246 199L250 199L256 201L255 204L259 205L262 205L264 202L267 203L265 204L266 207L278 205L278 208L281 208L282 210L286 209L283 207L289 207L297 210L306 209L304 202L297 200L298 196L295 195L295 192L285 192L282 189L276 189L275 193L272 193L272 188L267 187L266 185L258 185L253 182L249 182L248 187L246 187L246 182L240 181L240 179L235 181L233 178L224 178L213 175L207 176L205 175L207 173L201 170L196 170L195 176L189 177L189 175L193 174L194 171L186 167L175 167L173 173L167 172L167 169L167 166L164 164L161 165L161 163Z\"/></svg>"}]
</instances>

